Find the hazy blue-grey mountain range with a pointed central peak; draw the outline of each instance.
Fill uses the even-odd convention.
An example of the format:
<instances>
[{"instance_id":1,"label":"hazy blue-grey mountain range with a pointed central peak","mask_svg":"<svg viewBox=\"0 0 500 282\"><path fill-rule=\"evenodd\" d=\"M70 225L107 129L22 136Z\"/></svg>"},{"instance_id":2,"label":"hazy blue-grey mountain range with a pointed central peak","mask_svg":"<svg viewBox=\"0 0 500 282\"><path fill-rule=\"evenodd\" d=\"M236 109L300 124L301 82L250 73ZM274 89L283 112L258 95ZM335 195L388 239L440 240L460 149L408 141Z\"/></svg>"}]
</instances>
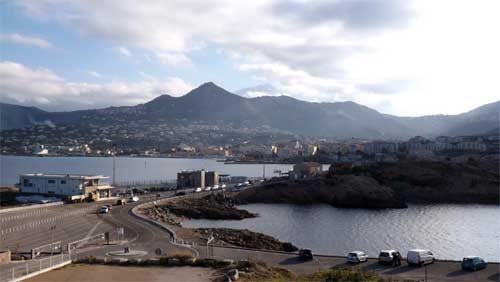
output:
<instances>
[{"instance_id":1,"label":"hazy blue-grey mountain range with a pointed central peak","mask_svg":"<svg viewBox=\"0 0 500 282\"><path fill-rule=\"evenodd\" d=\"M5 110L4 110L5 109ZM415 135L470 135L493 131L500 101L460 115L397 117L354 102L310 103L288 96L244 98L208 82L181 97L161 95L145 104L72 112L2 104L2 128L39 123L127 123L137 120L266 126L281 132L336 138L391 139Z\"/></svg>"}]
</instances>

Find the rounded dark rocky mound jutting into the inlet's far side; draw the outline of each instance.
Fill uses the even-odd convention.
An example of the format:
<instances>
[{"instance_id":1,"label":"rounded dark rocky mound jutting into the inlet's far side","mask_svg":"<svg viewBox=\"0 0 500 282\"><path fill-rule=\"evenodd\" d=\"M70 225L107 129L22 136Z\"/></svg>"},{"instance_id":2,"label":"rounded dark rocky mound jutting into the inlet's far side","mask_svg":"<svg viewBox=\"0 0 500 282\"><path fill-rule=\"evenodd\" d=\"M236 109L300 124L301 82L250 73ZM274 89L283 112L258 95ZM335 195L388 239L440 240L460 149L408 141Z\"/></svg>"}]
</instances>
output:
<instances>
[{"instance_id":1,"label":"rounded dark rocky mound jutting into the inlet's far side","mask_svg":"<svg viewBox=\"0 0 500 282\"><path fill-rule=\"evenodd\" d=\"M348 208L405 208L391 188L366 176L339 175L281 181L246 189L234 196L240 203L330 204Z\"/></svg>"}]
</instances>

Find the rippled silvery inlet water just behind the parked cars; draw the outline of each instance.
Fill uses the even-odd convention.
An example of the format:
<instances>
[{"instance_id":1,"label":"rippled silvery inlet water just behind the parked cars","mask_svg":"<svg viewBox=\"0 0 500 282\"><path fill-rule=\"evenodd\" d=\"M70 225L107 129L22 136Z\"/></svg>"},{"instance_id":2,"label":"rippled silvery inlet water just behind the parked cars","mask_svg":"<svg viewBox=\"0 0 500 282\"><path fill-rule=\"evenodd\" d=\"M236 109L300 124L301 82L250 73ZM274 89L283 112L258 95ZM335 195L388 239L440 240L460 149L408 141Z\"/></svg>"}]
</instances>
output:
<instances>
[{"instance_id":1,"label":"rippled silvery inlet water just behind the parked cars","mask_svg":"<svg viewBox=\"0 0 500 282\"><path fill-rule=\"evenodd\" d=\"M412 205L408 209L339 209L329 205L251 204L257 218L190 220L186 227L228 227L262 232L316 253L344 255L363 250L426 248L440 259L480 255L500 262L500 207Z\"/></svg>"}]
</instances>

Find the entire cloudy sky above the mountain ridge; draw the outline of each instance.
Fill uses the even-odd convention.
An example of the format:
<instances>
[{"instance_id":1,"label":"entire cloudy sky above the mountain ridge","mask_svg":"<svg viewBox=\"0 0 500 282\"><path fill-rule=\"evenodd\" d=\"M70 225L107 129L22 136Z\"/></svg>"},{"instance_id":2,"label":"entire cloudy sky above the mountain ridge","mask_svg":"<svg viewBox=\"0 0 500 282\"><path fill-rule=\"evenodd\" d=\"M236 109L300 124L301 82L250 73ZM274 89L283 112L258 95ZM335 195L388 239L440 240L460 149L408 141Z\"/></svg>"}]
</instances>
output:
<instances>
[{"instance_id":1,"label":"entire cloudy sky above the mountain ridge","mask_svg":"<svg viewBox=\"0 0 500 282\"><path fill-rule=\"evenodd\" d=\"M500 1L0 1L0 101L63 111L181 96L354 101L399 116L500 100Z\"/></svg>"}]
</instances>

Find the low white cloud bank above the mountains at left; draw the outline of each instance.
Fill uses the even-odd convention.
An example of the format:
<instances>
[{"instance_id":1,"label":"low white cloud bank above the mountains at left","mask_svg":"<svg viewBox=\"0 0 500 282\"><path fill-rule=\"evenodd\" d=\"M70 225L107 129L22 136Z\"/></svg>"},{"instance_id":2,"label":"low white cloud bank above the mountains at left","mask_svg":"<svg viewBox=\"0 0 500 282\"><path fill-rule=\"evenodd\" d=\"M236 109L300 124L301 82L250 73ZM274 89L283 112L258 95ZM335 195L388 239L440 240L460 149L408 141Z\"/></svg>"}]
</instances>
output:
<instances>
[{"instance_id":1,"label":"low white cloud bank above the mountains at left","mask_svg":"<svg viewBox=\"0 0 500 282\"><path fill-rule=\"evenodd\" d=\"M58 111L136 105L161 94L180 96L193 89L177 77L164 80L148 77L138 82L72 82L51 70L32 69L9 61L0 62L0 77L3 102Z\"/></svg>"}]
</instances>

